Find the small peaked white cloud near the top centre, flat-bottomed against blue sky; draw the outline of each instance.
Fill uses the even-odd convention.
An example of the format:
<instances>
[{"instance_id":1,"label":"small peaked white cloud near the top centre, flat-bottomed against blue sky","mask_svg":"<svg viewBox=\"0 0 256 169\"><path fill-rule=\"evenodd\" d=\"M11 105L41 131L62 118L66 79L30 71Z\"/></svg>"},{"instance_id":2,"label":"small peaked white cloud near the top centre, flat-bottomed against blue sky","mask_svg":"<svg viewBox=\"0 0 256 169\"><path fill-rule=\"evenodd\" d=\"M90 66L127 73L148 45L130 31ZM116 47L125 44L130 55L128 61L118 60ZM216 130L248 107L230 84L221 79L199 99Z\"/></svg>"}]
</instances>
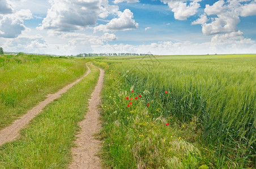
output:
<instances>
[{"instance_id":1,"label":"small peaked white cloud near the top centre, flat-bottomed against blue sky","mask_svg":"<svg viewBox=\"0 0 256 169\"><path fill-rule=\"evenodd\" d=\"M138 28L139 24L135 23L133 19L133 12L129 9L125 11L117 12L118 18L114 18L110 20L110 22L106 25L99 25L94 28L95 32L103 31L103 32L113 32L117 30L131 30Z\"/></svg>"}]
</instances>

